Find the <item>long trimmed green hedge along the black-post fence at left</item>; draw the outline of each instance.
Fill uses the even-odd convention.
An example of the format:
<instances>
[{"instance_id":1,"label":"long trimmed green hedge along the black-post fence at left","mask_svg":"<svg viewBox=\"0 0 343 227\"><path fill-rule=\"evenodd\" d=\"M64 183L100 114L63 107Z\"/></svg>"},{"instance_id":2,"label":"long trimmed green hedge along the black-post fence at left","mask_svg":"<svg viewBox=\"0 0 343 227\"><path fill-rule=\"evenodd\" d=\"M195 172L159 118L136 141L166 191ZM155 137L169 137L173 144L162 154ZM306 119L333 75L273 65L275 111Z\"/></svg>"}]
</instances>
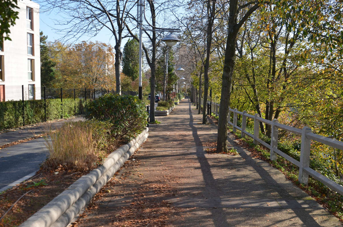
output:
<instances>
[{"instance_id":1,"label":"long trimmed green hedge along the black-post fence at left","mask_svg":"<svg viewBox=\"0 0 343 227\"><path fill-rule=\"evenodd\" d=\"M63 118L83 114L90 99L63 99ZM75 107L75 111L74 111ZM0 102L0 130L23 126L23 101ZM61 118L61 100L46 99L46 120ZM44 100L24 101L25 124L44 121Z\"/></svg>"}]
</instances>

